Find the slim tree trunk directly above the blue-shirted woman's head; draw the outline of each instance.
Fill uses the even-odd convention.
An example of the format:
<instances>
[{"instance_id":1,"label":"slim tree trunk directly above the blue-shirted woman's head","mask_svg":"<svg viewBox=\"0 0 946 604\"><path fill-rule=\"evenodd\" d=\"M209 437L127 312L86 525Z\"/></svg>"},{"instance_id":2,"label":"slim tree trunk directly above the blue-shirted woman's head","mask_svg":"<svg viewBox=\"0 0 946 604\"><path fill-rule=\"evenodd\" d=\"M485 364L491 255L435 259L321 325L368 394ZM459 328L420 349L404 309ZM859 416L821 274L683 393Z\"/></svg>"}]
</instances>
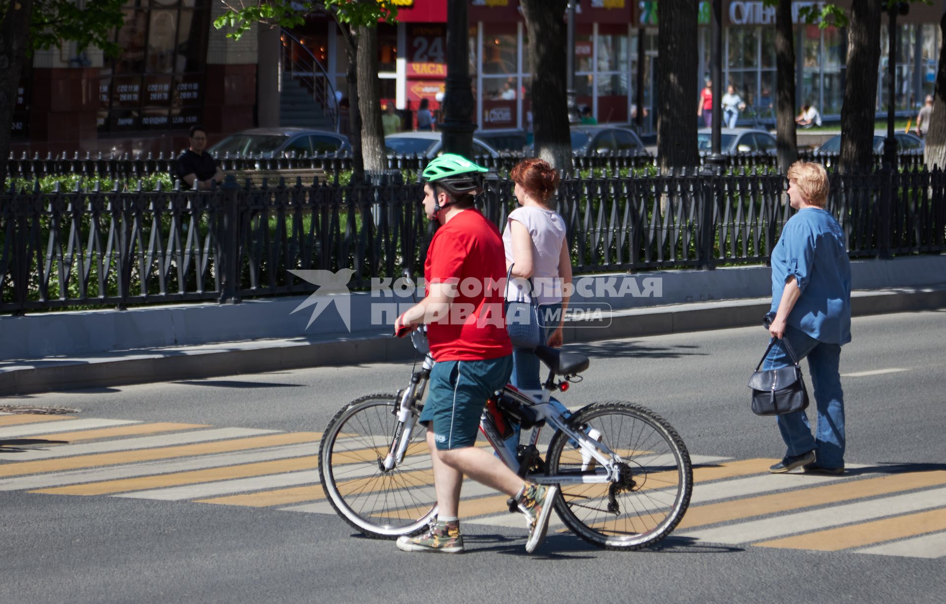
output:
<instances>
[{"instance_id":1,"label":"slim tree trunk directly above the blue-shirted woman's head","mask_svg":"<svg viewBox=\"0 0 946 604\"><path fill-rule=\"evenodd\" d=\"M798 158L795 135L795 44L792 3L782 0L775 16L776 141L779 171L784 174Z\"/></svg>"}]
</instances>

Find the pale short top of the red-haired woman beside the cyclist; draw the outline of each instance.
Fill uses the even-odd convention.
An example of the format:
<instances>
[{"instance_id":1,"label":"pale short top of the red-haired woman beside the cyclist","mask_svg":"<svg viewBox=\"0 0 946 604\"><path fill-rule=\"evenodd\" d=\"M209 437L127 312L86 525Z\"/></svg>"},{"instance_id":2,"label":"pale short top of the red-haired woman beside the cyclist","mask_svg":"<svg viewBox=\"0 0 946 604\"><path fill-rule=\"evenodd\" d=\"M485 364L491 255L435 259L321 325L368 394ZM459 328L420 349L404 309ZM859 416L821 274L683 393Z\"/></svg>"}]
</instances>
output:
<instances>
[{"instance_id":1,"label":"pale short top of the red-haired woman beside the cyclist","mask_svg":"<svg viewBox=\"0 0 946 604\"><path fill-rule=\"evenodd\" d=\"M552 210L519 206L509 213L506 228L502 231L502 245L506 251L506 263L513 258L513 230L509 222L517 221L529 230L533 240L533 283L539 304L554 304L562 301L562 280L558 276L558 260L565 242L565 221ZM510 283L509 300L529 299L529 284Z\"/></svg>"}]
</instances>

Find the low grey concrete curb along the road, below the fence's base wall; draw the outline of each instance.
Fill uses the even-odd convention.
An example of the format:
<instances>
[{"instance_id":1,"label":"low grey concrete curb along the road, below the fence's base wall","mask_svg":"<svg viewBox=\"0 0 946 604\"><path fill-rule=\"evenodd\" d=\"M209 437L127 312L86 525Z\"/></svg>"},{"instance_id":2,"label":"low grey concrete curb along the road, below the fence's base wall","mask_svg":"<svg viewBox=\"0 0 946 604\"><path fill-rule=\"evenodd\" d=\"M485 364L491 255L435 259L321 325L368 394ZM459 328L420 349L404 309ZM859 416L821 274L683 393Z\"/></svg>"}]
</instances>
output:
<instances>
[{"instance_id":1,"label":"low grey concrete curb along the road, below the fence's base wall","mask_svg":"<svg viewBox=\"0 0 946 604\"><path fill-rule=\"evenodd\" d=\"M567 343L731 329L762 325L770 298L678 304L606 313L606 329L593 321L566 326ZM857 291L854 316L946 308L946 284L927 288ZM592 327L593 326L593 327ZM241 373L262 373L327 365L407 362L414 358L408 340L375 332L319 338L256 340L205 346L131 350L73 359L44 359L0 369L0 395L103 388L132 383L168 382Z\"/></svg>"}]
</instances>

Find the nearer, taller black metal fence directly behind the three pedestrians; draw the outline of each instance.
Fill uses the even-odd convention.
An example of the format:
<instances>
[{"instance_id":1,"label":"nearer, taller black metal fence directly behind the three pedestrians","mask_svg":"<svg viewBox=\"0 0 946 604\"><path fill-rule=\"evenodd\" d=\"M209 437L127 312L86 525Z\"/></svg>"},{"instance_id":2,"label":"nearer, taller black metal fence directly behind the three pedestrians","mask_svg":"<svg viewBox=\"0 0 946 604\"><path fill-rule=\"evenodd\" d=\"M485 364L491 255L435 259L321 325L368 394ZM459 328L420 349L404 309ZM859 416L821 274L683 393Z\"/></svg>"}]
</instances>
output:
<instances>
[{"instance_id":1,"label":"nearer, taller black metal fence directly behind the three pedestrians","mask_svg":"<svg viewBox=\"0 0 946 604\"><path fill-rule=\"evenodd\" d=\"M946 251L946 176L832 175L827 209L851 257ZM315 289L289 271L353 270L352 285L421 270L432 226L418 185L0 195L0 311L123 308ZM557 211L577 273L763 262L792 210L779 175L569 179ZM504 224L512 184L487 181Z\"/></svg>"}]
</instances>

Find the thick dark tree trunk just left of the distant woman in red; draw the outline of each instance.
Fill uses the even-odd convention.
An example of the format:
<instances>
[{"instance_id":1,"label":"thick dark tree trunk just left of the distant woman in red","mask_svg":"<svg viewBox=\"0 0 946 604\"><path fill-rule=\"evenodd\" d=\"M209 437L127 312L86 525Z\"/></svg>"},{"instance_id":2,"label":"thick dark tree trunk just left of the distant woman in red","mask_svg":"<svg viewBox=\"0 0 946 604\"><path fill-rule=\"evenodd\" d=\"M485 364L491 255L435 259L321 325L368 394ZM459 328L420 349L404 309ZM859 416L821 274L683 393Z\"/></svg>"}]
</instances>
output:
<instances>
[{"instance_id":1,"label":"thick dark tree trunk just left of the distant woman in red","mask_svg":"<svg viewBox=\"0 0 946 604\"><path fill-rule=\"evenodd\" d=\"M696 7L692 0L662 0L657 32L657 157L660 169L695 168ZM722 82L717 86L723 89ZM718 94L718 93L717 93Z\"/></svg>"}]
</instances>

